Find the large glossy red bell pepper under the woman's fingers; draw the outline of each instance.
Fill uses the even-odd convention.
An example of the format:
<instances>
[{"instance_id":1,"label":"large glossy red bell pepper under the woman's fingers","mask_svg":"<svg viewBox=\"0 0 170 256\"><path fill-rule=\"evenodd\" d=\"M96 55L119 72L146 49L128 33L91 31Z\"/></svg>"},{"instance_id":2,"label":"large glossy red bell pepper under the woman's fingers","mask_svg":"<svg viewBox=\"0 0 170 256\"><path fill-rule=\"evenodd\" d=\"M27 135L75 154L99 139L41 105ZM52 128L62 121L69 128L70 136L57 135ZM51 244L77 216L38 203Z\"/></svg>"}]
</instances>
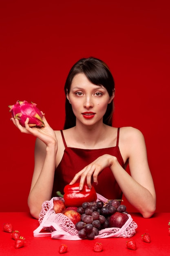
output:
<instances>
[{"instance_id":1,"label":"large glossy red bell pepper under the woman's fingers","mask_svg":"<svg viewBox=\"0 0 170 256\"><path fill-rule=\"evenodd\" d=\"M82 203L84 202L93 202L97 200L97 194L93 186L91 189L89 189L88 185L84 184L83 189L79 191L79 183L75 183L73 185L66 185L64 187L63 197L66 207L81 207Z\"/></svg>"}]
</instances>

